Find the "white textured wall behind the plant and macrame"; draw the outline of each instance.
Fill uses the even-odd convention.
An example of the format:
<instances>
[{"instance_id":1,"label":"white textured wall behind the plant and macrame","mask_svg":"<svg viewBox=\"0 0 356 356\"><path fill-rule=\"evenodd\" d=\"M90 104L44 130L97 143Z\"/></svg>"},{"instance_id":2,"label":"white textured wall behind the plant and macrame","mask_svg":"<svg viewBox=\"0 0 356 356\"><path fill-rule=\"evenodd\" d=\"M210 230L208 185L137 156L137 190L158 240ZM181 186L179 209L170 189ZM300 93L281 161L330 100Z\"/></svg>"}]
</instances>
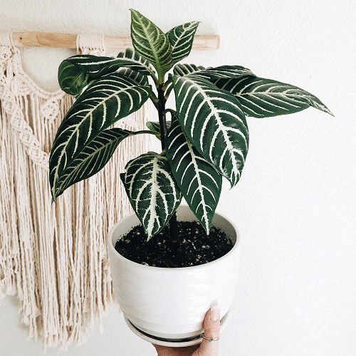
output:
<instances>
[{"instance_id":1,"label":"white textured wall behind the plant and macrame","mask_svg":"<svg viewBox=\"0 0 356 356\"><path fill-rule=\"evenodd\" d=\"M0 30L129 35L134 8L164 31L192 20L221 36L219 51L189 63L239 64L298 85L335 117L308 109L249 118L250 152L238 186L218 210L239 226L241 275L221 355L356 355L356 3L353 0L12 0ZM174 17L173 17L174 16ZM73 53L23 51L23 64L54 90L58 64ZM26 341L16 298L0 307L0 355L41 355ZM155 355L113 307L68 355ZM48 350L47 355L62 355Z\"/></svg>"}]
</instances>

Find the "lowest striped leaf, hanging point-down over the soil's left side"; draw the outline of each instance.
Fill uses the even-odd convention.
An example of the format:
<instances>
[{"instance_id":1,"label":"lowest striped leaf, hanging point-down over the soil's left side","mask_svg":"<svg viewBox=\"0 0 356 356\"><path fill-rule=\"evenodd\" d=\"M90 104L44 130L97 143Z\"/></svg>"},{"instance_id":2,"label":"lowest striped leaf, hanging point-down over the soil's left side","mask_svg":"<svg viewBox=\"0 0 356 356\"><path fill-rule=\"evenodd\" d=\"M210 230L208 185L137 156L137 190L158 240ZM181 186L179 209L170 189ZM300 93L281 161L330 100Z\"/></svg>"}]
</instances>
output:
<instances>
[{"instance_id":1,"label":"lowest striped leaf, hanging point-down over the soil's left side","mask_svg":"<svg viewBox=\"0 0 356 356\"><path fill-rule=\"evenodd\" d=\"M148 152L132 159L125 169L120 177L148 241L161 231L177 210L182 193L164 155Z\"/></svg>"}]
</instances>

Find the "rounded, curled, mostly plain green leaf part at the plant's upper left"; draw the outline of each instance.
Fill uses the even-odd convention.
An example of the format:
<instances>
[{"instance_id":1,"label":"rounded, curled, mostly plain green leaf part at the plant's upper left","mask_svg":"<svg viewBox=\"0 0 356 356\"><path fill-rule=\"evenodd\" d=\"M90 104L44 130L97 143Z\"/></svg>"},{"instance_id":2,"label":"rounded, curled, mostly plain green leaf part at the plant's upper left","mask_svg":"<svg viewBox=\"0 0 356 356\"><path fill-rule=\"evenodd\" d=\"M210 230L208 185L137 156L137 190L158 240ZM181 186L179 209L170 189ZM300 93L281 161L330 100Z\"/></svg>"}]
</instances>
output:
<instances>
[{"instance_id":1,"label":"rounded, curled, mostly plain green leaf part at the plant's upper left","mask_svg":"<svg viewBox=\"0 0 356 356\"><path fill-rule=\"evenodd\" d=\"M58 83L61 89L67 94L73 96L80 95L83 88L89 82L90 75L68 61L63 61L58 68Z\"/></svg>"}]
</instances>

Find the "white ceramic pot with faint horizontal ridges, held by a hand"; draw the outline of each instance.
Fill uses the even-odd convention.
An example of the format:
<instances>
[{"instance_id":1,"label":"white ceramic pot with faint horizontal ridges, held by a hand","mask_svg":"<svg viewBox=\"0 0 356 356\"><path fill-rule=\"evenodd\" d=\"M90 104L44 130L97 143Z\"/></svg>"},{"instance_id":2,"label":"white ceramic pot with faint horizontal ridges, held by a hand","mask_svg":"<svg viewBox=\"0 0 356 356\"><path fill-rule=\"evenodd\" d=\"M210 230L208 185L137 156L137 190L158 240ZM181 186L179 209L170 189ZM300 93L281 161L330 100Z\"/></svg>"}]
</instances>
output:
<instances>
[{"instance_id":1,"label":"white ceramic pot with faint horizontal ridges, held by a hand","mask_svg":"<svg viewBox=\"0 0 356 356\"><path fill-rule=\"evenodd\" d=\"M179 206L177 219L196 220L184 205ZM231 221L216 213L212 224L233 241L231 251L200 266L161 268L132 262L115 250L116 241L138 224L137 216L131 214L113 226L108 239L112 283L127 325L157 344L194 345L201 341L202 323L211 306L220 305L221 327L226 320L237 284L239 233Z\"/></svg>"}]
</instances>

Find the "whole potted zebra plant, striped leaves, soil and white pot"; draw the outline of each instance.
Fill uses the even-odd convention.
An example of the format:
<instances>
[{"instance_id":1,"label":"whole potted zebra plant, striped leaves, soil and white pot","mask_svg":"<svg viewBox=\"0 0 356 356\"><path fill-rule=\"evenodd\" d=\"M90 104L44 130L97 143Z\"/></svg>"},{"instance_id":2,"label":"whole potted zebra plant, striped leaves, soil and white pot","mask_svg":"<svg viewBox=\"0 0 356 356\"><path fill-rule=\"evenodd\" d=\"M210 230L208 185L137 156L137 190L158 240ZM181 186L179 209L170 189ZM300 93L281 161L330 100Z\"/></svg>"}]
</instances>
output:
<instances>
[{"instance_id":1,"label":"whole potted zebra plant, striped leaves, soil and white pot","mask_svg":"<svg viewBox=\"0 0 356 356\"><path fill-rule=\"evenodd\" d=\"M222 178L231 187L239 182L248 151L246 116L272 117L310 106L331 114L305 90L241 66L177 64L189 55L198 25L192 21L164 33L131 9L133 50L115 58L72 56L58 70L61 88L76 100L51 150L53 200L100 171L126 137L150 134L161 140L162 152L130 160L120 174L135 214L116 224L108 241L127 325L161 345L200 342L206 310L216 303L221 325L226 322L239 235L215 209ZM166 108L172 93L174 110ZM158 122L147 123L149 130L112 127L149 99L158 114ZM179 206L182 197L188 206ZM120 253L117 241L124 245Z\"/></svg>"}]
</instances>

